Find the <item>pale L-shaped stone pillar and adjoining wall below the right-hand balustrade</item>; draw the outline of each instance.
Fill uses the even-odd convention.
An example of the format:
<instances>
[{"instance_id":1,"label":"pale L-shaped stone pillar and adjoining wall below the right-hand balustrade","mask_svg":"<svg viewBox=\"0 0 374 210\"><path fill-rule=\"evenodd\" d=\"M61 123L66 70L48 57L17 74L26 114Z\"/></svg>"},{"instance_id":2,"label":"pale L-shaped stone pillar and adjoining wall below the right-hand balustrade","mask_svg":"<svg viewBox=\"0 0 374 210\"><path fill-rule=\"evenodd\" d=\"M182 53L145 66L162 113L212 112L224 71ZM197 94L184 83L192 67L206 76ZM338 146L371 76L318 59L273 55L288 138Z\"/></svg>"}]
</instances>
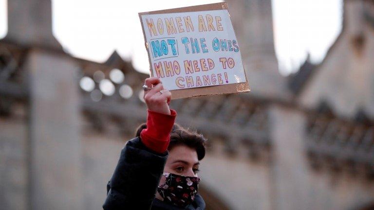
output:
<instances>
[{"instance_id":1,"label":"pale L-shaped stone pillar and adjoining wall below the right-hand balustrade","mask_svg":"<svg viewBox=\"0 0 374 210\"><path fill-rule=\"evenodd\" d=\"M305 147L304 113L275 106L271 119L275 210L358 210L374 203L373 181L358 171L318 171L311 167Z\"/></svg>"}]
</instances>

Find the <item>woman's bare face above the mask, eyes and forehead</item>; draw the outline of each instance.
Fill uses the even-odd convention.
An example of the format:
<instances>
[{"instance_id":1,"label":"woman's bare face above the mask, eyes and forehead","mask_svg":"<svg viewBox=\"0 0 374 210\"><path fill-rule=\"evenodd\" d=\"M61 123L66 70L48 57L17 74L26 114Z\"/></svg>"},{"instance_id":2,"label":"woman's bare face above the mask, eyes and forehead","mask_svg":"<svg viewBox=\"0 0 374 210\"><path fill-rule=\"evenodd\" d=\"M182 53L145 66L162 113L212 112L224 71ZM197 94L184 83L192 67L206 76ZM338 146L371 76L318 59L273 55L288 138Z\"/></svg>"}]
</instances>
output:
<instances>
[{"instance_id":1,"label":"woman's bare face above the mask, eyes and forehead","mask_svg":"<svg viewBox=\"0 0 374 210\"><path fill-rule=\"evenodd\" d=\"M198 176L199 165L200 162L195 149L186 145L176 145L169 151L164 172L184 176Z\"/></svg>"}]
</instances>

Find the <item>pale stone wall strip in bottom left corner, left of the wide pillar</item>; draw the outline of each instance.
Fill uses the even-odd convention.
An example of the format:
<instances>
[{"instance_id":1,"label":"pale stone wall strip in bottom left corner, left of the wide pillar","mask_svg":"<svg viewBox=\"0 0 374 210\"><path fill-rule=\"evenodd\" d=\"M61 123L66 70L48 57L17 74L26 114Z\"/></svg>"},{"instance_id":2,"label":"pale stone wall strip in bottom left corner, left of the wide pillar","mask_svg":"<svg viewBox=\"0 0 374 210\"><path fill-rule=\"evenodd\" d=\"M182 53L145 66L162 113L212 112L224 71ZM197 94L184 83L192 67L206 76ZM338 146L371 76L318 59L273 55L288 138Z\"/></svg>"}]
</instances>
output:
<instances>
[{"instance_id":1,"label":"pale stone wall strip in bottom left corner, left of the wide pillar","mask_svg":"<svg viewBox=\"0 0 374 210\"><path fill-rule=\"evenodd\" d=\"M0 203L4 210L28 209L28 126L25 107L0 116Z\"/></svg>"}]
</instances>

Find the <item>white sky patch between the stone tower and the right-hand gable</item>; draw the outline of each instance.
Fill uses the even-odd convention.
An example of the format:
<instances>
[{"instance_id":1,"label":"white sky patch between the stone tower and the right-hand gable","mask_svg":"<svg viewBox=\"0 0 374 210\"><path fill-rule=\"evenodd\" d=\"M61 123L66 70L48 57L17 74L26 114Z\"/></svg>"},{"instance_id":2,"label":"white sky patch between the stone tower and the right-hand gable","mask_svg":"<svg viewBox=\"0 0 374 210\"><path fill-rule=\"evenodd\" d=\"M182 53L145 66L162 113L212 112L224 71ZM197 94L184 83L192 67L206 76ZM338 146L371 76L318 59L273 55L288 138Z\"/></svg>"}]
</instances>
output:
<instances>
[{"instance_id":1,"label":"white sky patch between the stone tower and the right-hand gable","mask_svg":"<svg viewBox=\"0 0 374 210\"><path fill-rule=\"evenodd\" d=\"M299 69L307 54L319 63L342 28L342 0L272 0L275 50L282 74Z\"/></svg>"}]
</instances>

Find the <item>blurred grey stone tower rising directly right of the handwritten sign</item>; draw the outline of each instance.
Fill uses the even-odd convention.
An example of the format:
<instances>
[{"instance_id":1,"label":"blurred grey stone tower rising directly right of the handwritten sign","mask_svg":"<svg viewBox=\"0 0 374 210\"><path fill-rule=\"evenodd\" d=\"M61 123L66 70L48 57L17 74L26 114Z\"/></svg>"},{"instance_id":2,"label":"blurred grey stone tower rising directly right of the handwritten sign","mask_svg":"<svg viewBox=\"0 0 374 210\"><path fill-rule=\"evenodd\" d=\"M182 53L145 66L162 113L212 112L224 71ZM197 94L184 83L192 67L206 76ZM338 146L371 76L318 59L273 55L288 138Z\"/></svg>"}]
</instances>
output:
<instances>
[{"instance_id":1,"label":"blurred grey stone tower rising directly right of the handwritten sign","mask_svg":"<svg viewBox=\"0 0 374 210\"><path fill-rule=\"evenodd\" d=\"M274 50L271 0L226 0L251 95L288 98ZM271 84L271 85L270 85Z\"/></svg>"}]
</instances>

